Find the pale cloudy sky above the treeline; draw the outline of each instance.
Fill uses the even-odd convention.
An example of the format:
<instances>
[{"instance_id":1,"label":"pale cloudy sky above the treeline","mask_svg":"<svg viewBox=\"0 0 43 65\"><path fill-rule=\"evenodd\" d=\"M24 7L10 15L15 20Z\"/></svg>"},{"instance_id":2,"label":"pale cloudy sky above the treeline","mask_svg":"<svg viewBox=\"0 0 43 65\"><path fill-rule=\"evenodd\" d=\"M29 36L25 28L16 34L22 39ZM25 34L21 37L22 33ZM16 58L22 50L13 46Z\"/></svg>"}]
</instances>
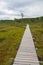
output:
<instances>
[{"instance_id":1,"label":"pale cloudy sky above the treeline","mask_svg":"<svg viewBox=\"0 0 43 65\"><path fill-rule=\"evenodd\" d=\"M43 16L43 0L0 0L0 20Z\"/></svg>"}]
</instances>

